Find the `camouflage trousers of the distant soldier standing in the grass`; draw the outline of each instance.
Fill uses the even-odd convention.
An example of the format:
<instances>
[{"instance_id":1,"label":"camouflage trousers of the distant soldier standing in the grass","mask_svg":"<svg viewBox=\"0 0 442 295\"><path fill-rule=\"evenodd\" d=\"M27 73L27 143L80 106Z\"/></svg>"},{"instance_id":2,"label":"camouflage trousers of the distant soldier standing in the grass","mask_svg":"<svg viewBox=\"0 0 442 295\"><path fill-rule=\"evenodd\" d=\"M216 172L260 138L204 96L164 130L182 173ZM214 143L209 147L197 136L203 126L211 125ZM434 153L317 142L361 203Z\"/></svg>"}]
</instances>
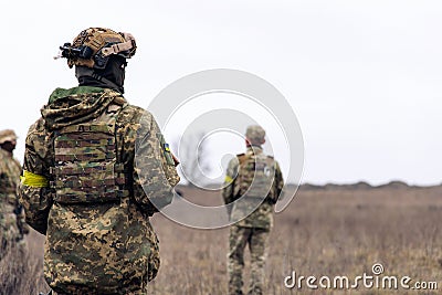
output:
<instances>
[{"instance_id":1,"label":"camouflage trousers of the distant soldier standing in the grass","mask_svg":"<svg viewBox=\"0 0 442 295\"><path fill-rule=\"evenodd\" d=\"M267 229L230 228L230 251L228 261L229 294L243 294L242 271L244 268L244 249L249 245L251 256L251 277L248 294L263 294L264 265L269 244L270 231Z\"/></svg>"}]
</instances>

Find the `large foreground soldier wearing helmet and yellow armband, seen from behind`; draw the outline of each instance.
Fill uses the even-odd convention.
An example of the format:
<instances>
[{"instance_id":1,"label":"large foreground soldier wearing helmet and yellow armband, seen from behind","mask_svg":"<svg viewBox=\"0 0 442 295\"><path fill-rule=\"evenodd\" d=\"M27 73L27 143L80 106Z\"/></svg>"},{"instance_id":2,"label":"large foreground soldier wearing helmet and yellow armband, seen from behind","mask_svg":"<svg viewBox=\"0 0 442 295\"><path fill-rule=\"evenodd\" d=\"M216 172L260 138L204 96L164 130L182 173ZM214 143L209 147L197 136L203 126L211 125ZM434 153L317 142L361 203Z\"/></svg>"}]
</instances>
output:
<instances>
[{"instance_id":1,"label":"large foreground soldier wearing helmet and yellow armband, seen from behind","mask_svg":"<svg viewBox=\"0 0 442 295\"><path fill-rule=\"evenodd\" d=\"M149 217L179 177L152 115L123 96L135 39L90 28L61 50L80 85L56 88L30 127L20 185L46 235L44 277L57 294L146 294L160 262Z\"/></svg>"}]
</instances>

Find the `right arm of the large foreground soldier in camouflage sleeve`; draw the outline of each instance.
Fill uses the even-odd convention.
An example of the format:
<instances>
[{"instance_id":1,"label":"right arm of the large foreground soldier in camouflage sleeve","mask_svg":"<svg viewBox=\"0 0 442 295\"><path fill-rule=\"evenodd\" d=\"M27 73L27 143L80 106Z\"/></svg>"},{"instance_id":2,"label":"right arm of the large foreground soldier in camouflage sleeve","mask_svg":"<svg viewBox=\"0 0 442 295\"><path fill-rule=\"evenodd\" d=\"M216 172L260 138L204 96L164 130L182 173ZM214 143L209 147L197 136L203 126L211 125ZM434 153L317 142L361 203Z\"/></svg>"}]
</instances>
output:
<instances>
[{"instance_id":1,"label":"right arm of the large foreground soldier in camouflage sleeve","mask_svg":"<svg viewBox=\"0 0 442 295\"><path fill-rule=\"evenodd\" d=\"M138 139L134 160L134 197L151 215L172 201L179 176L173 156L149 113L141 117Z\"/></svg>"}]
</instances>

